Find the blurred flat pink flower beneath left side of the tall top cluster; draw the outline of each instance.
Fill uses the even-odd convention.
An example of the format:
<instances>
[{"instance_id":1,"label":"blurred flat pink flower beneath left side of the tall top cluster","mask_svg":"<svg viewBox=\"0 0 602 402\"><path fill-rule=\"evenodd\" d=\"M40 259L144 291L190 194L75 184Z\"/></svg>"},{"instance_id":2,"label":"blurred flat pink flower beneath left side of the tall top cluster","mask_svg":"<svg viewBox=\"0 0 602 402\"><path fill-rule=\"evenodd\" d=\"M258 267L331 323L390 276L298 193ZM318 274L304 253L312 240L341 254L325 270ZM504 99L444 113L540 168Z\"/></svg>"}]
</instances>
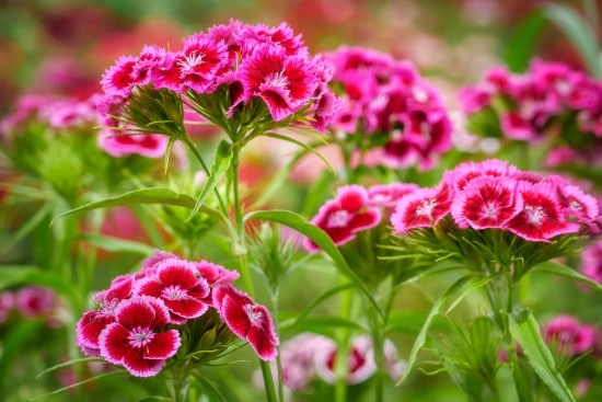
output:
<instances>
[{"instance_id":1,"label":"blurred flat pink flower beneath left side of the tall top cluster","mask_svg":"<svg viewBox=\"0 0 602 402\"><path fill-rule=\"evenodd\" d=\"M159 134L132 134L100 136L99 146L113 157L140 154L147 158L162 158L169 137Z\"/></svg>"}]
</instances>

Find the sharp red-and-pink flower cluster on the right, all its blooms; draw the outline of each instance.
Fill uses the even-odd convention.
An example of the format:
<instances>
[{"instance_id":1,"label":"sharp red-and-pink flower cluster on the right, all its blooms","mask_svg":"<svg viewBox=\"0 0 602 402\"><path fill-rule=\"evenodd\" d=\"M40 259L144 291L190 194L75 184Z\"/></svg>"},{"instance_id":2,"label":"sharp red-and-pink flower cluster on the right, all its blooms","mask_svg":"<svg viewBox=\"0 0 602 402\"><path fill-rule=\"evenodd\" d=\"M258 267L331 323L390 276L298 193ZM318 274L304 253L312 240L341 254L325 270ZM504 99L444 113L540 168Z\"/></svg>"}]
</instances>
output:
<instances>
[{"instance_id":1,"label":"sharp red-and-pink flower cluster on the right, all its blooms","mask_svg":"<svg viewBox=\"0 0 602 402\"><path fill-rule=\"evenodd\" d=\"M499 160L447 171L438 186L402 197L391 222L401 234L433 227L450 215L461 229L500 229L534 242L581 229L599 231L594 197L560 176L541 176Z\"/></svg>"}]
</instances>

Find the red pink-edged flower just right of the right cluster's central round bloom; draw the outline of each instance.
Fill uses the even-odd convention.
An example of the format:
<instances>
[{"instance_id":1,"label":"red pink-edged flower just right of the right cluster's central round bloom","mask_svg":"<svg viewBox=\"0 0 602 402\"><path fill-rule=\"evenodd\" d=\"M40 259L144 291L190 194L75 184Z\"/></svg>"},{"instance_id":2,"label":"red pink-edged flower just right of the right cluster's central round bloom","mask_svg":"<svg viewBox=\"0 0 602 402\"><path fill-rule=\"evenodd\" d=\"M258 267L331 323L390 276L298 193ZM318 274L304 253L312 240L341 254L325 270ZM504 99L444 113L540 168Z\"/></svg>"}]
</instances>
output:
<instances>
[{"instance_id":1,"label":"red pink-edged flower just right of the right cluster's central round bloom","mask_svg":"<svg viewBox=\"0 0 602 402\"><path fill-rule=\"evenodd\" d=\"M548 242L558 234L576 233L579 225L567 222L554 186L521 182L517 200L522 210L507 225L508 230L530 241Z\"/></svg>"}]
</instances>

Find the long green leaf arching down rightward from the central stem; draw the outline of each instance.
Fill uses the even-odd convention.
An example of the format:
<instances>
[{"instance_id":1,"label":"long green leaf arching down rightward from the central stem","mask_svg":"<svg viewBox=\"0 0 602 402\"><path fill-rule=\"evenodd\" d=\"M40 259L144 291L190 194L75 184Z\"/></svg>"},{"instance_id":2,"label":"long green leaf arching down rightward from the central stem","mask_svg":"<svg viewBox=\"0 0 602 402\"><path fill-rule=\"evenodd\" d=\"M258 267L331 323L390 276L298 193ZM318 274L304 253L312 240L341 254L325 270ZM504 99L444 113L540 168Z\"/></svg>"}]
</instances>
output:
<instances>
[{"instance_id":1,"label":"long green leaf arching down rightward from the central stem","mask_svg":"<svg viewBox=\"0 0 602 402\"><path fill-rule=\"evenodd\" d=\"M340 273L347 276L351 280L351 283L366 295L368 300L374 306L375 310L379 312L379 315L381 318L384 318L382 310L380 309L379 305L377 303L366 285L363 285L358 275L354 271L351 271L351 268L349 268L349 265L347 265L347 262L340 254L340 251L338 251L338 248L335 245L335 243L333 243L333 240L328 234L326 234L325 231L310 223L301 215L290 210L274 209L252 211L245 216L244 220L246 221L251 219L269 220L282 223L310 238L326 254L328 254L331 259L333 259L336 267L340 271Z\"/></svg>"}]
</instances>

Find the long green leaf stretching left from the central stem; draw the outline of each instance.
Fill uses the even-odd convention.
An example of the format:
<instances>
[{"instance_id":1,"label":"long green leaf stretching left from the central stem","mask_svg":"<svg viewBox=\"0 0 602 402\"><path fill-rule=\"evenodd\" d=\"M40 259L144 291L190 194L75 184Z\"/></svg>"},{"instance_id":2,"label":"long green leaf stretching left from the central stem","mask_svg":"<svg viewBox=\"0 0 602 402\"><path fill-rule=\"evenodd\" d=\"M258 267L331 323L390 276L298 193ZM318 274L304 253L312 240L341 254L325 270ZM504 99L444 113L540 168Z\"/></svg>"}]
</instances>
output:
<instances>
[{"instance_id":1,"label":"long green leaf stretching left from the central stem","mask_svg":"<svg viewBox=\"0 0 602 402\"><path fill-rule=\"evenodd\" d=\"M195 199L186 194L178 194L169 188L160 188L160 187L139 188L128 193L124 193L115 197L88 203L74 209L62 213L59 216L57 216L55 219L53 219L50 225L53 225L58 219L63 218L66 216L73 215L77 213L82 213L90 209L109 208L109 207L116 207L116 206L123 206L123 205L136 205L136 204L163 204L163 205L174 205L180 207L186 207L192 209L195 207Z\"/></svg>"}]
</instances>

